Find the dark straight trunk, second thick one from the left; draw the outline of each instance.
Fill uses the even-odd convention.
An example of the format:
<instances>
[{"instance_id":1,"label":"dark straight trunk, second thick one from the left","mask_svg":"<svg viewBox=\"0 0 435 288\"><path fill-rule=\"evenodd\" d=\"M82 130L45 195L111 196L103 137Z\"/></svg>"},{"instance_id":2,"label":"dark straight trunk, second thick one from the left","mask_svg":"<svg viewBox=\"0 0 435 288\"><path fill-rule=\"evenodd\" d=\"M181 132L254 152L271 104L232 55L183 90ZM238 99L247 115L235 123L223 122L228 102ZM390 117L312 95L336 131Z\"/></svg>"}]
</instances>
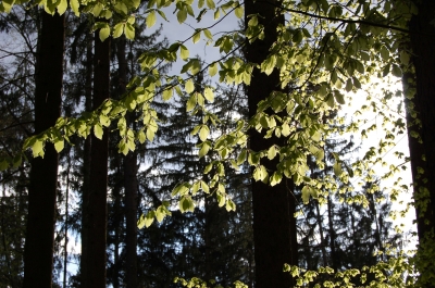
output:
<instances>
[{"instance_id":1,"label":"dark straight trunk, second thick one from the left","mask_svg":"<svg viewBox=\"0 0 435 288\"><path fill-rule=\"evenodd\" d=\"M95 34L94 53L94 98L92 109L109 99L110 90L110 38L101 42ZM105 242L107 242L107 193L108 193L108 147L109 129L104 128L102 139L91 134L90 184L88 202L88 231L85 288L105 288Z\"/></svg>"}]
</instances>

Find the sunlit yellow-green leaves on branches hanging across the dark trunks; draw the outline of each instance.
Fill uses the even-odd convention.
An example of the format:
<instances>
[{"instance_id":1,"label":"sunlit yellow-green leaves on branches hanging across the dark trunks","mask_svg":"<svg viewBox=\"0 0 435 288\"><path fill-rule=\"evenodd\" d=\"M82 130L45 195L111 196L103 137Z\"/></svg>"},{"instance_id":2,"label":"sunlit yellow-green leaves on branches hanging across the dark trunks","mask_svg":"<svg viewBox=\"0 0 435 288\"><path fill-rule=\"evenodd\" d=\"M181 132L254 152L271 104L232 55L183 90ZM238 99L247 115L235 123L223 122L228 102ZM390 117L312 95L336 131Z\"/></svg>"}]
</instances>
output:
<instances>
[{"instance_id":1,"label":"sunlit yellow-green leaves on branches hanging across the dark trunks","mask_svg":"<svg viewBox=\"0 0 435 288\"><path fill-rule=\"evenodd\" d=\"M16 3L27 4L26 1ZM372 167L384 162L383 153L389 146L395 145L395 134L402 133L403 125L400 121L391 123L390 114L383 113L378 103L370 99L364 108L378 112L385 123L395 125L393 129L385 128L385 140L376 148L370 149L363 159L352 165L347 165L338 154L334 154L335 177L311 177L308 159L314 158L318 166L324 167L325 137L333 133L359 132L358 123L351 123L346 129L338 129L331 128L324 122L324 118L336 109L343 109L346 103L352 101L349 98L351 91L364 89L364 86L376 76L384 77L390 74L396 77L401 76L400 65L407 64L410 59L410 51L399 51L401 35L408 33L407 22L417 13L415 7L405 0L393 3L391 1L366 3L356 0L271 3L276 4L276 13L285 14L287 21L285 26L278 28L279 38L268 59L257 66L247 63L235 53L243 49L244 42L263 39L265 27L259 24L257 15L247 15L248 21L244 32L213 34L213 28L228 15L234 14L238 18L243 16L240 2L227 1L216 4L213 0L200 0L197 2L199 13L196 13L192 0L149 1L145 13L149 27L156 23L158 15L166 18L163 11L166 7L175 8L174 13L181 24L190 18L201 23L207 13L213 14L215 23L203 27L198 24L195 26L195 32L183 41L174 42L167 48L145 51L138 59L142 75L129 83L127 92L120 100L108 99L96 111L83 113L79 117L59 118L55 126L47 132L27 138L17 154L4 156L1 167L4 170L21 163L27 149L32 149L33 156L44 156L44 147L48 141L53 142L60 152L64 148L64 142L70 141L75 135L86 138L94 133L97 138L101 138L103 127L109 127L112 123L116 125L120 134L119 152L127 154L137 149L138 143L151 142L158 135L159 113L153 107L156 99L169 101L188 95L186 112L201 117L201 122L191 129L191 134L198 135L199 142L195 145L200 148L199 156L207 160L208 164L203 170L207 175L204 179L186 180L173 189L172 197L178 197L182 212L195 210L192 199L199 191L215 195L219 205L225 205L228 211L235 210L235 203L227 192L225 183L231 166L238 167L246 163L252 167L254 180L274 186L281 183L283 177L291 178L296 185L301 186L303 202L308 202L310 198L318 198L322 191L328 189L336 189L340 193L349 192L353 188L348 184L353 177L360 177L365 183L373 181ZM0 10L9 12L13 4L13 1L2 0ZM62 14L67 9L66 0L55 3L39 1L38 4L44 4L45 10L51 14L55 11ZM114 14L120 15L112 24L99 22L95 24L101 40L110 35L115 38L122 34L128 39L134 38L136 21L134 11L139 5L138 1L72 0L70 5L76 15L80 12L105 18L111 18ZM185 45L190 39L197 43L202 36L221 53L221 59L206 66L201 66L197 58L189 58ZM166 75L159 72L159 66L174 62L178 58L185 61L179 73ZM217 133L219 136L214 138L214 132L219 129L222 120L208 108L207 103L213 101L216 88L213 87L214 84L210 84L203 91L196 90L196 75L208 72L210 77L219 77L222 84L228 86L249 85L252 80L251 72L257 68L268 75L277 70L282 88L289 84L294 87L286 93L275 91L264 96L254 117L248 121L234 118L233 128L225 134ZM388 97L391 98L385 95L382 99L383 105L387 105ZM142 125L137 130L127 126L125 115L130 112L141 115ZM283 137L285 145L282 147L273 145L263 151L252 151L248 148L249 128L264 130L266 137L272 135ZM366 136L370 129L375 128L376 126L371 126L361 130L361 136ZM261 159L275 158L279 159L279 164L274 171L266 171L260 164ZM398 167L391 165L391 173L387 175L397 171ZM394 192L399 189L401 188L393 188ZM161 222L164 216L171 214L170 203L161 201L160 203L140 217L139 226L151 225L154 217ZM391 261L394 259L400 258L391 258ZM346 277L346 275L341 277L344 281Z\"/></svg>"}]
</instances>

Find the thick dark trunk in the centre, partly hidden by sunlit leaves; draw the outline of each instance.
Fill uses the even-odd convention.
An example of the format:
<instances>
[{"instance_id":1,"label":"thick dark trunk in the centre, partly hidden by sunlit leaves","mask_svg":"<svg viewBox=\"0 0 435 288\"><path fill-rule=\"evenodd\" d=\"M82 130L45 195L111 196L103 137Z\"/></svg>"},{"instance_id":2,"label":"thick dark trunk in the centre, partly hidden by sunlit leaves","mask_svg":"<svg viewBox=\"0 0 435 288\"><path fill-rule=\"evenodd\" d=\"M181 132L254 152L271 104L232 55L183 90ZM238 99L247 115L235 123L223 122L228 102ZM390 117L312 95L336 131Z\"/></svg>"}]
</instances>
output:
<instances>
[{"instance_id":1,"label":"thick dark trunk in the centre, partly hidden by sunlit leaves","mask_svg":"<svg viewBox=\"0 0 435 288\"><path fill-rule=\"evenodd\" d=\"M246 16L258 14L259 23L264 25L264 39L247 45L246 58L251 63L261 63L269 49L277 39L276 27L284 24L284 16L275 14L278 1L246 1ZM248 23L246 17L246 23ZM251 85L247 88L249 116L257 112L257 104L272 91L279 89L279 74L275 70L265 75L254 68ZM283 138L264 138L265 133L249 132L250 149L260 151L272 145L283 146ZM278 160L264 160L268 171L275 171ZM271 187L262 181L252 181L253 241L257 288L287 288L291 285L289 273L284 273L285 263L297 265L296 218L294 185L289 179Z\"/></svg>"}]
</instances>

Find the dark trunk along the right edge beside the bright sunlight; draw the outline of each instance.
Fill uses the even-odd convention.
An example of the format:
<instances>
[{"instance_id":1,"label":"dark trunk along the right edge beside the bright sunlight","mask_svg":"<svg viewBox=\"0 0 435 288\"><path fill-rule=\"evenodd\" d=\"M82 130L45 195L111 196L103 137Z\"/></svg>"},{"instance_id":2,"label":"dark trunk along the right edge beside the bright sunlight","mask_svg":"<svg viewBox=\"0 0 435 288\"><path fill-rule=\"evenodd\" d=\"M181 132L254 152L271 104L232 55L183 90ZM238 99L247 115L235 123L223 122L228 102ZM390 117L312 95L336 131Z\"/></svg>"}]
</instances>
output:
<instances>
[{"instance_id":1,"label":"dark trunk along the right edge beside the bright sunlight","mask_svg":"<svg viewBox=\"0 0 435 288\"><path fill-rule=\"evenodd\" d=\"M411 33L412 62L415 67L417 93L413 102L421 121L421 139L423 141L424 164L419 155L419 143L410 139L411 166L424 165L422 175L424 186L414 189L417 223L419 234L420 280L425 287L435 287L435 268L432 261L435 256L435 2L414 1L419 13L413 15L409 29ZM415 156L412 159L412 156ZM414 162L414 163L412 163ZM417 163L415 163L417 162ZM414 183L420 179L414 178Z\"/></svg>"}]
</instances>

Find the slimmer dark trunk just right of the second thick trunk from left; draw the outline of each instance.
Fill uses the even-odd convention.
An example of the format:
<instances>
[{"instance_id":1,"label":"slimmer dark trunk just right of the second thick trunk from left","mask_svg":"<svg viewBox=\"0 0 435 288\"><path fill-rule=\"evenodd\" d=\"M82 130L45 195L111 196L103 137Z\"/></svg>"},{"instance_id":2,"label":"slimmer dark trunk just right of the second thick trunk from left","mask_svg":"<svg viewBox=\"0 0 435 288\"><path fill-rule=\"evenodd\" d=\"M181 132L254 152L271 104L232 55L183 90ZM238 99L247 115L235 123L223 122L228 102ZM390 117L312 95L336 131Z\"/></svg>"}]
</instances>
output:
<instances>
[{"instance_id":1,"label":"slimmer dark trunk just right of the second thick trunk from left","mask_svg":"<svg viewBox=\"0 0 435 288\"><path fill-rule=\"evenodd\" d=\"M125 92L127 84L127 60L125 58L126 39L122 36L117 41L117 62L120 77L120 95ZM127 125L132 125L126 116ZM137 153L129 152L124 158L124 188L125 188L125 250L126 250L126 287L137 288Z\"/></svg>"}]
</instances>

